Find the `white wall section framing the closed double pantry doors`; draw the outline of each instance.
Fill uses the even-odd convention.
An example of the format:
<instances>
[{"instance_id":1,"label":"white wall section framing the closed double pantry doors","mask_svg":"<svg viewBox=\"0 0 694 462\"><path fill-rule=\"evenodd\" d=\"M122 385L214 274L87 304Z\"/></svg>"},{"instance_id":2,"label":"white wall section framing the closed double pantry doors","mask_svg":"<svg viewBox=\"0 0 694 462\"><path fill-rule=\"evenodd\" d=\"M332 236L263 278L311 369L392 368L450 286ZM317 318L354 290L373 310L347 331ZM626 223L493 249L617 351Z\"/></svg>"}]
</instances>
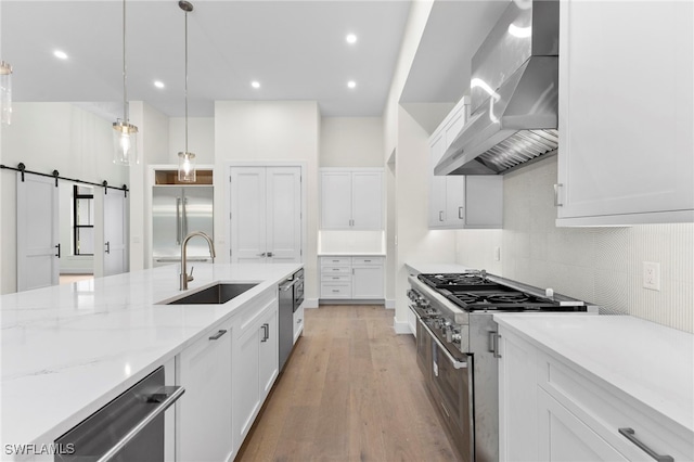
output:
<instances>
[{"instance_id":1,"label":"white wall section framing the closed double pantry doors","mask_svg":"<svg viewBox=\"0 0 694 462\"><path fill-rule=\"evenodd\" d=\"M229 261L229 164L296 162L304 176L307 300L318 299L318 167L321 119L314 101L217 101L215 103L215 245Z\"/></svg>"}]
</instances>

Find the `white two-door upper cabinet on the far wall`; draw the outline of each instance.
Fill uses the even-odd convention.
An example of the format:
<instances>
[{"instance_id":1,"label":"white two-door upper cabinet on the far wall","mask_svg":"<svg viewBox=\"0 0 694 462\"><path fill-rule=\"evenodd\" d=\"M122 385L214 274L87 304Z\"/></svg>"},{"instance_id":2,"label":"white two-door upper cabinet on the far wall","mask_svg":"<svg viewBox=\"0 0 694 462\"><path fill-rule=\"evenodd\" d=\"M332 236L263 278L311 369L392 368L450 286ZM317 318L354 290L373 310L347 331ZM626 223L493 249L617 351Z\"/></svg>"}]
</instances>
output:
<instances>
[{"instance_id":1,"label":"white two-door upper cabinet on the far wall","mask_svg":"<svg viewBox=\"0 0 694 462\"><path fill-rule=\"evenodd\" d=\"M321 229L383 229L383 170L321 169Z\"/></svg>"}]
</instances>

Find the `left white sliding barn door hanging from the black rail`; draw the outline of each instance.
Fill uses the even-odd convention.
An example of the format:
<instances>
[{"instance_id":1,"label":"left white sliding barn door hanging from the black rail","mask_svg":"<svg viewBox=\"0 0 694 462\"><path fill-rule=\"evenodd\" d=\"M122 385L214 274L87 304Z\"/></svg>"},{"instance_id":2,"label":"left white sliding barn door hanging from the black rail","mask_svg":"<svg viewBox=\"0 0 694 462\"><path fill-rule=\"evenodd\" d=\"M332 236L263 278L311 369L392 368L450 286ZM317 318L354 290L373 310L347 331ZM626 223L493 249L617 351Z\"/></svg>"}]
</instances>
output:
<instances>
[{"instance_id":1,"label":"left white sliding barn door hanging from the black rail","mask_svg":"<svg viewBox=\"0 0 694 462\"><path fill-rule=\"evenodd\" d=\"M55 179L17 174L17 291L59 283L59 189Z\"/></svg>"}]
</instances>

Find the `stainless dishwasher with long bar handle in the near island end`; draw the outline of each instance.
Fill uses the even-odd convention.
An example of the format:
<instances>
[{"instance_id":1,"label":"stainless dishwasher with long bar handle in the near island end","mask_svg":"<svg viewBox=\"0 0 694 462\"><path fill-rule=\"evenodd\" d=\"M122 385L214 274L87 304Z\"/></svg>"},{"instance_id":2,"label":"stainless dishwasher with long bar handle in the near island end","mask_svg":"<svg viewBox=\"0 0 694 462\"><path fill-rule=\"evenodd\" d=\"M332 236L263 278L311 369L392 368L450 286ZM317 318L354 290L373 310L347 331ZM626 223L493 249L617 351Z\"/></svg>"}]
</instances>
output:
<instances>
[{"instance_id":1,"label":"stainless dishwasher with long bar handle in the near island end","mask_svg":"<svg viewBox=\"0 0 694 462\"><path fill-rule=\"evenodd\" d=\"M54 460L164 461L164 411L185 390L164 383L160 367L57 438Z\"/></svg>"}]
</instances>

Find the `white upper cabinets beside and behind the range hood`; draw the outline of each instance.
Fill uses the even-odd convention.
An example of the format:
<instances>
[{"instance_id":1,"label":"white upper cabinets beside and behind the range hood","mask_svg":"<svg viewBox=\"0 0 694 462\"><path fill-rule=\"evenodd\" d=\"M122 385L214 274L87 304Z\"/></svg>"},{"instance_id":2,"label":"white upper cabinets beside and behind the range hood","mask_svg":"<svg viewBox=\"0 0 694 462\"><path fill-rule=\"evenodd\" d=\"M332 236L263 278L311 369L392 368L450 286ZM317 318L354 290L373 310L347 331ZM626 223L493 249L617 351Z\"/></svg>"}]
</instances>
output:
<instances>
[{"instance_id":1,"label":"white upper cabinets beside and behind the range hood","mask_svg":"<svg viewBox=\"0 0 694 462\"><path fill-rule=\"evenodd\" d=\"M455 134L465 126L470 101L465 97L453 107L429 138L429 228L501 228L503 178L501 176L434 175L434 167Z\"/></svg>"}]
</instances>

